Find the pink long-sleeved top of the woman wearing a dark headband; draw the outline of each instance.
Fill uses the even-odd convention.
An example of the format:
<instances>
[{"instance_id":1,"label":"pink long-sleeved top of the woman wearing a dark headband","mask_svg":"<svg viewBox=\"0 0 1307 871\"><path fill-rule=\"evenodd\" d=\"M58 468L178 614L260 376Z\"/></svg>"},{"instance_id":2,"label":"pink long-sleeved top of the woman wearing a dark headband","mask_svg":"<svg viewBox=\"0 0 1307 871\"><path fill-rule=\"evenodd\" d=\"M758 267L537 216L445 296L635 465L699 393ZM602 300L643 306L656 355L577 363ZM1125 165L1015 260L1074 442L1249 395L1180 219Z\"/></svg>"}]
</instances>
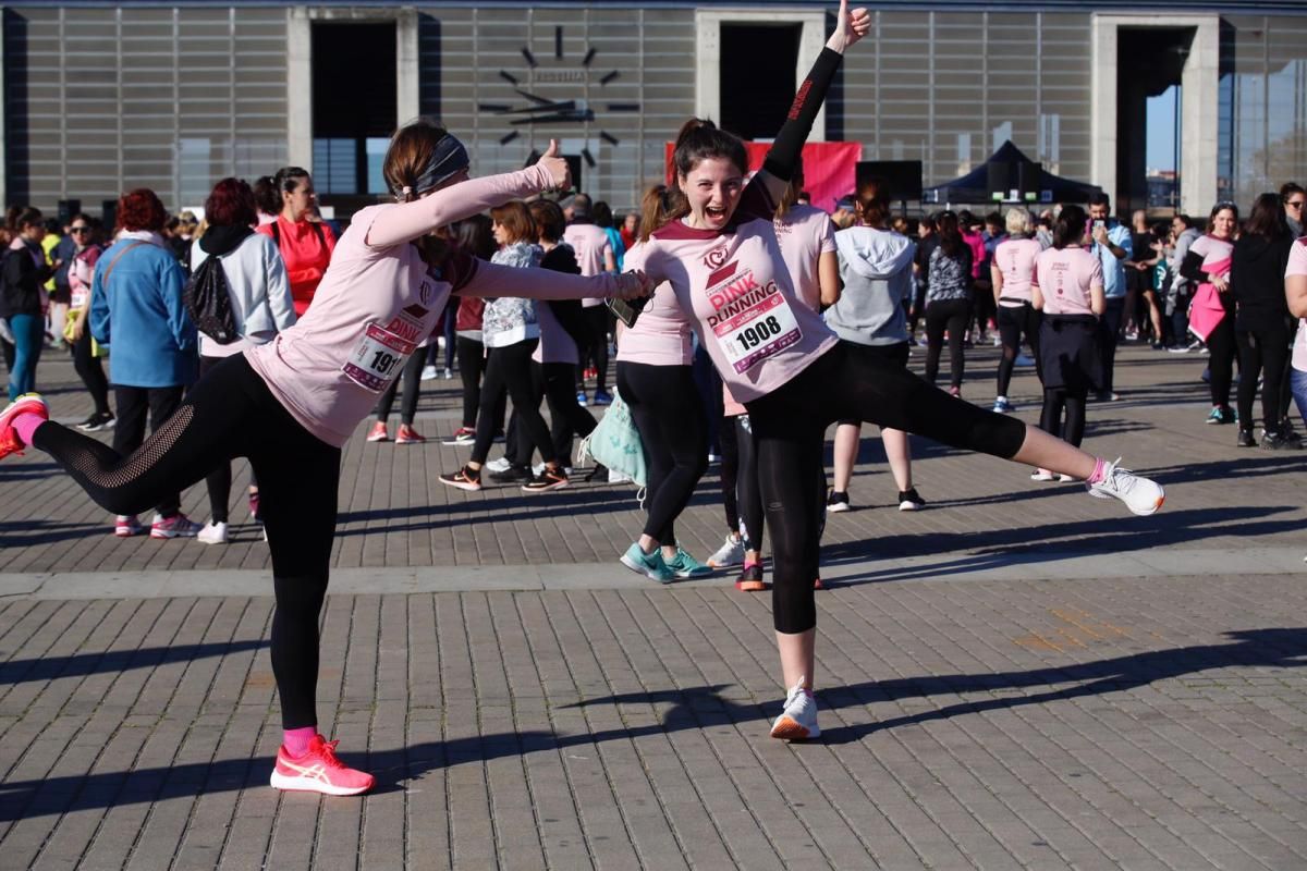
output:
<instances>
[{"instance_id":1,"label":"pink long-sleeved top of the woman wearing a dark headband","mask_svg":"<svg viewBox=\"0 0 1307 871\"><path fill-rule=\"evenodd\" d=\"M308 432L341 447L417 346L451 291L471 296L576 299L612 295L617 277L489 264L456 249L435 276L409 244L435 226L546 189L532 166L464 182L416 202L369 206L336 243L314 304L294 326L246 351L268 389Z\"/></svg>"}]
</instances>

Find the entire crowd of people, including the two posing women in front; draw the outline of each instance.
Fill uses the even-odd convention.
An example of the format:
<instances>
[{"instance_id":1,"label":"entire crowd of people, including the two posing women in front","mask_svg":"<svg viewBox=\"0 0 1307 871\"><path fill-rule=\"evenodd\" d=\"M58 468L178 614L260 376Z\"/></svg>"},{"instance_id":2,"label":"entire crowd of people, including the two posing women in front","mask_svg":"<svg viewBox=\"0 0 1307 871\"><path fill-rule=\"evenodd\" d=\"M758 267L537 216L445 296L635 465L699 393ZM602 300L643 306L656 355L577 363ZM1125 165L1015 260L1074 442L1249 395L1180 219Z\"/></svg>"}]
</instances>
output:
<instances>
[{"instance_id":1,"label":"entire crowd of people, including the two posing women in front","mask_svg":"<svg viewBox=\"0 0 1307 871\"><path fill-rule=\"evenodd\" d=\"M597 424L588 406L620 398L648 466L646 521L621 563L660 582L740 565L737 588L761 590L769 528L787 689L771 735L816 738L819 539L826 513L850 505L863 423L881 427L901 511L925 507L912 481L916 434L1022 464L1036 481L1084 482L1093 496L1150 515L1165 498L1155 482L1078 447L1089 396L1116 398L1120 337L1161 347L1188 347L1188 330L1204 338L1222 422L1223 362L1238 349L1240 434L1251 430L1255 394L1246 397L1246 385L1256 387L1260 370L1266 447L1297 444L1283 390L1307 411L1307 330L1297 340L1290 330L1290 316L1307 315L1307 243L1293 243L1285 217L1286 208L1300 215L1302 188L1259 198L1244 225L1219 204L1197 238L1178 217L1168 240L1146 221L1133 231L1119 225L1106 197L1087 212L1067 205L1035 218L1013 209L976 222L944 210L916 226L891 213L881 179L861 183L834 221L804 202L804 141L843 52L869 25L842 1L761 170L749 174L737 137L690 120L672 155L674 184L651 188L638 213L621 217L584 195L562 196L570 175L557 144L524 170L471 179L463 144L429 120L391 140L391 201L362 209L340 234L320 218L312 176L298 167L252 185L220 180L197 222L173 222L152 191L131 191L111 239L80 214L68 244L48 245L39 212L12 210L0 457L29 447L48 453L114 515L116 535L205 543L227 541L230 464L247 458L250 511L269 545L277 601L272 662L285 731L272 784L346 795L371 789L372 777L340 761L315 710L342 445L367 418L367 441L389 441L400 392L393 441L425 441L418 390L425 370L442 368L442 345L443 368L457 368L463 388L446 444L471 448L439 475L450 487L567 487L574 439ZM63 303L44 285L58 287L60 270ZM1213 311L1176 332L1175 311L1195 311L1212 294ZM639 316L616 321L609 303L637 299ZM925 379L908 371L919 325ZM67 337L94 401L77 427L51 422L35 393L47 330ZM961 390L967 345L991 336L1002 362L988 409ZM1294 372L1285 377L1290 342ZM946 390L933 387L945 345ZM1027 345L1042 383L1038 427L1009 414ZM88 435L108 427L111 447ZM501 437L505 454L490 460ZM678 542L676 521L710 453L721 457L725 538L701 562ZM599 466L587 477L609 473ZM201 478L210 501L203 525L180 512L178 492ZM150 507L145 526L139 516Z\"/></svg>"}]
</instances>

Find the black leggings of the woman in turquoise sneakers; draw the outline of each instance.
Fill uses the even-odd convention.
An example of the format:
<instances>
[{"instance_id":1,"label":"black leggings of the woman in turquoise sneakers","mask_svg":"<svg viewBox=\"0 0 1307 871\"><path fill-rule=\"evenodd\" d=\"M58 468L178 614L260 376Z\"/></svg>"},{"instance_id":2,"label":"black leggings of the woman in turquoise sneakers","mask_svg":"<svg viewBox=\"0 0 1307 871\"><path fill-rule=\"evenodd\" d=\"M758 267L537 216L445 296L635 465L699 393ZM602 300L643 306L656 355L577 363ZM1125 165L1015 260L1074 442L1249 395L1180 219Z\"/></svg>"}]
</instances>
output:
<instances>
[{"instance_id":1,"label":"black leggings of the woman in turquoise sneakers","mask_svg":"<svg viewBox=\"0 0 1307 871\"><path fill-rule=\"evenodd\" d=\"M708 428L691 367L618 360L617 390L650 461L644 534L676 545L673 524L708 469Z\"/></svg>"}]
</instances>

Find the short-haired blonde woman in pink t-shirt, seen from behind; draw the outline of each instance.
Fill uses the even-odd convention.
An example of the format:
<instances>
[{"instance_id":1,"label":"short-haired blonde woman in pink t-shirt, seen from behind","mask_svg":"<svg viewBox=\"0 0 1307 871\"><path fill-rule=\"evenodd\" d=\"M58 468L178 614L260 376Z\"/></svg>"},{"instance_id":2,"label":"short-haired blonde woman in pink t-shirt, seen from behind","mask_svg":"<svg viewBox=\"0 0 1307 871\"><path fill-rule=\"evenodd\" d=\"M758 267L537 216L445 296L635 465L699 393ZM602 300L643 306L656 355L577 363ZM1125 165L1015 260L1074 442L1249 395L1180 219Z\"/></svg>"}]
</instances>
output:
<instances>
[{"instance_id":1,"label":"short-haired blonde woman in pink t-shirt, seen from behind","mask_svg":"<svg viewBox=\"0 0 1307 871\"><path fill-rule=\"evenodd\" d=\"M993 251L993 264L989 266L989 279L993 282L993 300L999 307L999 337L1002 342L1002 356L999 359L999 389L995 393L993 410L1004 414L1014 411L1008 401L1008 387L1012 384L1012 370L1021 353L1021 340L1030 342L1035 353L1035 372L1042 375L1039 360L1039 312L1030 302L1030 283L1035 273L1035 257L1043 245L1034 238L1030 213L1025 209L1010 209L1006 217L1008 238Z\"/></svg>"}]
</instances>

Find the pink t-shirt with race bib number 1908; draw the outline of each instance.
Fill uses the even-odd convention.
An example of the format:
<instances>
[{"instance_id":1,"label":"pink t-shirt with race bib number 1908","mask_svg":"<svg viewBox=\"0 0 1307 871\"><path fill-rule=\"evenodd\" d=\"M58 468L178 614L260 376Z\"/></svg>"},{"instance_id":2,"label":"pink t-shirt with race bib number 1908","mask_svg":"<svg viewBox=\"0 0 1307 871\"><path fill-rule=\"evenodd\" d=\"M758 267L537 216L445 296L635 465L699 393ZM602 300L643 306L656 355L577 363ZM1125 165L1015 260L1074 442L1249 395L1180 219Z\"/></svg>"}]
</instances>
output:
<instances>
[{"instance_id":1,"label":"pink t-shirt with race bib number 1908","mask_svg":"<svg viewBox=\"0 0 1307 871\"><path fill-rule=\"evenodd\" d=\"M644 255L644 272L672 285L740 402L783 387L836 341L795 294L772 225L775 208L766 185L750 182L721 231L673 221L654 232Z\"/></svg>"}]
</instances>

